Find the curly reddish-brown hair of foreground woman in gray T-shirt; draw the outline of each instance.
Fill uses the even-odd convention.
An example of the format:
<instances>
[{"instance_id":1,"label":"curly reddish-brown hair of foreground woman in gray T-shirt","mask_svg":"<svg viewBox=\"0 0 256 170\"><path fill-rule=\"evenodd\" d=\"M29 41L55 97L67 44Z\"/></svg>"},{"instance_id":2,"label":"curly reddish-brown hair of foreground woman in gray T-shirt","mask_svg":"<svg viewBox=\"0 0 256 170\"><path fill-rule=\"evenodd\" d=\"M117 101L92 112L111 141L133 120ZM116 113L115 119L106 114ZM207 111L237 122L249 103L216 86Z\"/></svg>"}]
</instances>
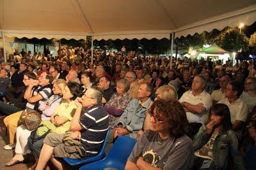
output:
<instances>
[{"instance_id":1,"label":"curly reddish-brown hair of foreground woman in gray T-shirt","mask_svg":"<svg viewBox=\"0 0 256 170\"><path fill-rule=\"evenodd\" d=\"M156 109L156 116L154 110ZM170 134L174 137L180 137L188 131L188 119L182 105L176 99L154 101L150 106L148 113L151 116L161 115L164 120L170 123Z\"/></svg>"}]
</instances>

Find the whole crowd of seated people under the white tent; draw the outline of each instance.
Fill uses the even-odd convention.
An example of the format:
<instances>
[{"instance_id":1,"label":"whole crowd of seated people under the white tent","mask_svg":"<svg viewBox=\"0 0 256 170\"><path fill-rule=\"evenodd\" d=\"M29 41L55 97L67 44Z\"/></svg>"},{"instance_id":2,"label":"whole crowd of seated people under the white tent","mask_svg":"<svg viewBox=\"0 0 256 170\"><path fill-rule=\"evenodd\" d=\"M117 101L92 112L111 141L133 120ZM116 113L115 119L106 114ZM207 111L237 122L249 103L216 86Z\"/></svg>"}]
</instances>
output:
<instances>
[{"instance_id":1,"label":"whole crowd of seated people under the white tent","mask_svg":"<svg viewBox=\"0 0 256 170\"><path fill-rule=\"evenodd\" d=\"M256 143L255 66L187 57L170 65L168 57L100 49L92 60L88 48L64 46L56 57L15 52L0 67L4 150L15 148L6 166L33 155L31 169L65 169L60 158L97 155L104 139L106 155L128 136L137 143L125 169L245 169ZM34 131L19 124L28 110L41 114Z\"/></svg>"}]
</instances>

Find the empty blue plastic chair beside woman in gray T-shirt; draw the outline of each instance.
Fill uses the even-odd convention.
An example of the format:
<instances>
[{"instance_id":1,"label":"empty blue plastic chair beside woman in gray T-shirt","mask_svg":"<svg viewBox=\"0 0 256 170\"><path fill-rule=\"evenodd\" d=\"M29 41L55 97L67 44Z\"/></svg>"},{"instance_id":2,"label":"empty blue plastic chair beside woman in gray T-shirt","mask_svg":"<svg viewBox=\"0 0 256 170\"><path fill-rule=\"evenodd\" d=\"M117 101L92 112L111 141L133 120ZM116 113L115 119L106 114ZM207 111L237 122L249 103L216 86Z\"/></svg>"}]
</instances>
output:
<instances>
[{"instance_id":1,"label":"empty blue plastic chair beside woman in gray T-shirt","mask_svg":"<svg viewBox=\"0 0 256 170\"><path fill-rule=\"evenodd\" d=\"M105 169L107 167L124 169L129 155L132 152L136 140L127 136L119 136L108 155L102 159L82 166L79 170Z\"/></svg>"}]
</instances>

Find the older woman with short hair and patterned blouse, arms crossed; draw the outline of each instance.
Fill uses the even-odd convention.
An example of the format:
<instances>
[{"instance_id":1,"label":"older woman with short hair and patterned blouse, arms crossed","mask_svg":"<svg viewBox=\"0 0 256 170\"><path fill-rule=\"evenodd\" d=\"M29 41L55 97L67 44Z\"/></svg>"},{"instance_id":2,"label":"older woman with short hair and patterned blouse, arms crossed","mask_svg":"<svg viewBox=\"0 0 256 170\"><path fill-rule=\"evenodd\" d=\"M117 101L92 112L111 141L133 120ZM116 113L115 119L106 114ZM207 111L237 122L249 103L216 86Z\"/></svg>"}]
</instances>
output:
<instances>
[{"instance_id":1,"label":"older woman with short hair and patterned blouse, arms crossed","mask_svg":"<svg viewBox=\"0 0 256 170\"><path fill-rule=\"evenodd\" d=\"M125 79L116 81L116 93L111 96L105 107L109 113L109 126L115 127L116 122L120 120L120 116L124 112L131 96L127 93L130 89L129 82Z\"/></svg>"}]
</instances>

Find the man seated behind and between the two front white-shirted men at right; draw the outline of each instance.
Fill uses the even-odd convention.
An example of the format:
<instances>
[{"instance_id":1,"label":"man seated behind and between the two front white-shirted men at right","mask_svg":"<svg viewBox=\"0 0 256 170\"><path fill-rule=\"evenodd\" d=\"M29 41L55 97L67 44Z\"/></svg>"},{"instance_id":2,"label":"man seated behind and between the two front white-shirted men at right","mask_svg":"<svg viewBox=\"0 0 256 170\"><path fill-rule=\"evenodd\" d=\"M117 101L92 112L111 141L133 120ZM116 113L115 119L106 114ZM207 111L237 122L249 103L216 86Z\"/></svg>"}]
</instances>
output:
<instances>
[{"instance_id":1,"label":"man seated behind and between the two front white-shirted men at right","mask_svg":"<svg viewBox=\"0 0 256 170\"><path fill-rule=\"evenodd\" d=\"M230 81L229 76L222 76L219 81L220 89L214 90L211 94L212 102L217 103L221 99L225 99L225 90L227 88L228 82Z\"/></svg>"}]
</instances>

